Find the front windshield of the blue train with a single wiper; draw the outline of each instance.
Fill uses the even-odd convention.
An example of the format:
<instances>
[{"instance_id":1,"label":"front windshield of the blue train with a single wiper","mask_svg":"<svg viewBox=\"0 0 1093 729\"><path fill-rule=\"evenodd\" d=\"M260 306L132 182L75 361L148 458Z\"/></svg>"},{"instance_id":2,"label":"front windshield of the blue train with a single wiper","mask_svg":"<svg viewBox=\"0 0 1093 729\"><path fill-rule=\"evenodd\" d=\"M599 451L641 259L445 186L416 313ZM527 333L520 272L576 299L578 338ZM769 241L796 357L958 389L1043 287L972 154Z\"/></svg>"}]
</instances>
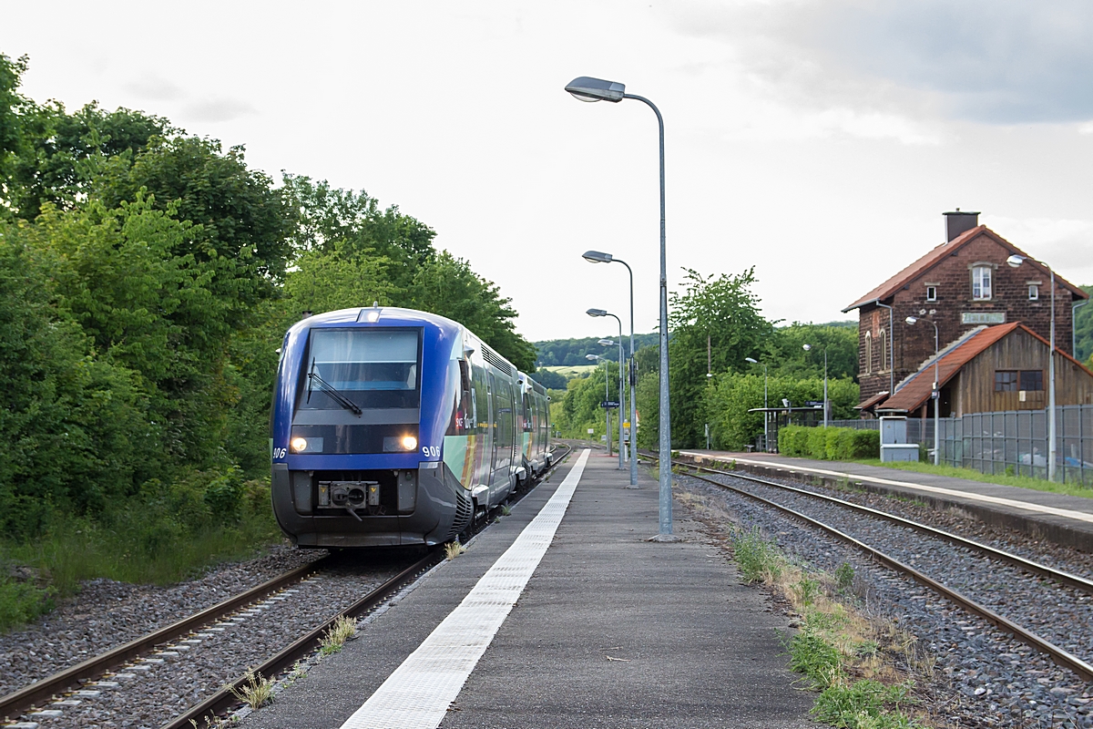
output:
<instances>
[{"instance_id":1,"label":"front windshield of the blue train with a single wiper","mask_svg":"<svg viewBox=\"0 0 1093 729\"><path fill-rule=\"evenodd\" d=\"M420 331L416 329L313 329L302 381L302 410L416 408L420 402Z\"/></svg>"}]
</instances>

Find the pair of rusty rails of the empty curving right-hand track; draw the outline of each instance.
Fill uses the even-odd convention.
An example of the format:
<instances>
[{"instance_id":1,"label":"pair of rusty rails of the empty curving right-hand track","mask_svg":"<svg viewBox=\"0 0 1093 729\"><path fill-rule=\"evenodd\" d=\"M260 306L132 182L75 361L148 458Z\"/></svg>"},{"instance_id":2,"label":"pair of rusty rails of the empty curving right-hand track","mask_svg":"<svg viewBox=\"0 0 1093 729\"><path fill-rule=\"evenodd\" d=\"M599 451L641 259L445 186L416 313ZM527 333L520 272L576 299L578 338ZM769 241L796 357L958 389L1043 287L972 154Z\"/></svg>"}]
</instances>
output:
<instances>
[{"instance_id":1,"label":"pair of rusty rails of the empty curving right-hand track","mask_svg":"<svg viewBox=\"0 0 1093 729\"><path fill-rule=\"evenodd\" d=\"M655 456L647 455L647 457L651 458L655 461L657 460ZM774 508L783 514L786 514L795 519L803 521L811 527L820 529L831 534L832 537L835 537L839 541L853 545L855 549L863 552L865 554L869 555L877 562L888 566L889 568L912 577L913 579L926 586L933 592L960 605L966 612L978 615L979 618L986 620L988 623L995 625L1001 631L1013 635L1013 637L1016 638L1018 640L1035 648L1037 651L1049 657L1051 661L1054 661L1057 666L1073 671L1083 681L1086 682L1093 681L1093 665L1076 656L1073 652L1056 645L1051 640L1046 639L1044 636L1042 636L1034 630L1018 623L1015 620L1011 620L1000 614L996 610L986 607L982 602L973 599L972 597L968 597L967 595L961 592L960 590L947 586L940 579L936 579L935 577L927 575L924 571L910 564L907 564L901 560L897 560L896 557L892 556L885 551L878 549L877 546L873 546L862 541L861 539L857 539L850 536L849 533L846 533L846 531L843 529L838 529L834 526L825 524L824 521L821 521L820 519L813 516L809 516L796 508L787 506L786 504L778 503L772 498L764 497L747 489L725 483L722 481L718 481L715 479L706 478L701 474L709 473L726 479L739 479L745 482L760 484L765 489L774 489L777 492L790 494L792 496L803 496L807 499L815 501L826 506L835 506L838 507L839 509L849 509L855 515L883 520L890 524L897 525L905 529L914 530L915 532L918 532L920 534L926 534L929 538L955 544L959 548L962 548L974 554L979 555L980 557L994 560L996 562L1001 562L1003 564L1015 567L1016 569L1026 573L1032 577L1037 578L1037 580L1039 580L1037 584L1042 586L1041 587L1042 592L1044 590L1043 587L1044 580L1049 580L1050 583L1055 583L1058 586L1065 586L1066 588L1070 588L1083 595L1093 595L1093 580L1089 580L1084 577L1073 575L1062 569L1057 569L1055 567L1044 565L1033 560L1027 560L1016 554L998 550L987 544L983 544L974 540L966 539L928 525L912 521L909 519L905 519L896 515L880 512L878 509L873 509L867 506L861 506L859 504L854 504L851 502L847 502L825 494L819 494L804 489L789 486L783 483L769 481L767 479L762 479L750 474L741 474L734 471L733 472L720 471L717 469L695 466L693 463L687 463L682 461L673 461L673 466L687 469L687 471L690 471L687 475L690 475L691 478L713 484L715 486L718 486L719 489L729 490L749 499L753 499L767 507ZM1046 604L1053 604L1054 601L1049 599L1044 599L1044 602Z\"/></svg>"}]
</instances>

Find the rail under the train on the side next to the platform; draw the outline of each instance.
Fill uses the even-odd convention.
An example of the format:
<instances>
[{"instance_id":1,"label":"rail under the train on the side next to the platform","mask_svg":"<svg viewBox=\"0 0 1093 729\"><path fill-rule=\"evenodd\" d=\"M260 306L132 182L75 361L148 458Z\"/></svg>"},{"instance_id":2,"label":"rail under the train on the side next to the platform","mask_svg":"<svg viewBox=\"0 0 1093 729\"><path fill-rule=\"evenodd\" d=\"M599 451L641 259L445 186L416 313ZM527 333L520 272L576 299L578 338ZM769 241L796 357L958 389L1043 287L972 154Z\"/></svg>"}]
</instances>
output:
<instances>
[{"instance_id":1,"label":"rail under the train on the side next to the platform","mask_svg":"<svg viewBox=\"0 0 1093 729\"><path fill-rule=\"evenodd\" d=\"M566 444L565 454L556 459L552 459L553 462L551 467L539 475L537 485L538 482L544 480L548 475L553 473L571 452L573 452L573 447ZM531 490L529 489L528 492L530 491ZM522 494L521 497L527 495L528 492ZM489 526L489 524L486 526ZM428 554L419 560L416 563L410 565L345 610L314 628L307 635L298 638L295 643L268 659L261 666L252 669L252 674L272 680L275 675L292 667L297 660L315 650L321 643L322 636L328 630L330 630L339 618L356 618L357 615L375 609L393 592L398 591L411 577L415 577L418 573L432 568L439 562L439 550L431 550ZM184 714L180 714L171 721L164 724L160 729L191 729L195 726L193 722L199 722L199 726L219 726L215 719L218 715L221 715L233 706L243 703L236 697L235 692L239 691L248 680L248 675L243 675L236 679L234 683L225 685L219 692L209 696L200 704L191 706Z\"/></svg>"}]
</instances>

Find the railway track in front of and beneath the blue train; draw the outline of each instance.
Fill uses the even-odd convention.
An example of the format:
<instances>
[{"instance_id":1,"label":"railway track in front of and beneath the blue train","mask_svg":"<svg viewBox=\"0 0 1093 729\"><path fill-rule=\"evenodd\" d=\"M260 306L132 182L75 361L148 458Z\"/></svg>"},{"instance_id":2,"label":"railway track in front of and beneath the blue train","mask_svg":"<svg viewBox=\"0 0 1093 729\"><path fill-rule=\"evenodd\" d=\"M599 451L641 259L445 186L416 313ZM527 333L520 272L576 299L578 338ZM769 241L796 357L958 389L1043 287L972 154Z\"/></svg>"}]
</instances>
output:
<instances>
[{"instance_id":1,"label":"railway track in front of and beneath the blue train","mask_svg":"<svg viewBox=\"0 0 1093 729\"><path fill-rule=\"evenodd\" d=\"M529 493L565 460L572 452L572 447L565 446L564 448L564 450L560 449L560 455L554 458L553 466L540 479L532 482L530 487L522 490L518 497ZM479 530L486 526L489 526L487 522L483 522ZM366 590L363 597L357 596L350 604L338 610L321 624L314 625L313 622L309 622L312 627L297 631L294 638L287 642L289 645L263 657L263 660L248 660L244 665L249 666L254 673L266 678L275 677L314 651L324 634L337 620L357 618L375 609L440 560L443 560L442 550L433 549L412 564L399 565L399 568L393 571L386 569L386 573L395 572L393 575L386 574L383 568L374 571L380 576L381 584ZM224 631L238 627L246 616L260 615L269 608L283 605L285 602L281 601L290 600L291 595L301 590L306 596L318 581L321 581L320 578L337 573L339 566L344 567L343 562L339 563L338 555L326 555L257 587L234 595L213 607L195 612L171 625L150 632L2 696L0 697L0 716L4 717L4 721L0 725L9 724L12 721L10 717L21 715L27 716L31 724L40 719L57 719L61 715L75 710L86 699L98 699L103 692L118 691L120 690L119 681L115 679L126 677L127 680L131 681L137 678L137 673L155 669L165 660L183 660L189 655L191 648L197 647L195 644L201 644L204 639L214 640L222 637ZM406 560L402 562L404 564ZM360 575L355 576L360 581ZM366 577L376 577L376 575ZM334 576L330 581L338 579L339 577ZM224 622L220 622L218 626L218 621ZM172 668L177 668L177 663ZM97 681L93 681L95 679ZM215 684L221 686L220 690L185 708L166 724L163 724L161 719L149 724L149 726L162 724L164 728L189 728L193 726L193 721L198 721L200 726L205 724L215 726L213 717L240 703L235 697L233 690L239 690L246 682L247 675L238 677L227 684L225 684L225 680L230 680L230 677L221 674ZM49 703L44 704L44 702ZM103 710L108 713L111 708L104 707ZM73 720L75 721L73 726L97 725L102 720L102 716L93 716L90 721L75 717ZM19 726L19 722L15 726Z\"/></svg>"}]
</instances>

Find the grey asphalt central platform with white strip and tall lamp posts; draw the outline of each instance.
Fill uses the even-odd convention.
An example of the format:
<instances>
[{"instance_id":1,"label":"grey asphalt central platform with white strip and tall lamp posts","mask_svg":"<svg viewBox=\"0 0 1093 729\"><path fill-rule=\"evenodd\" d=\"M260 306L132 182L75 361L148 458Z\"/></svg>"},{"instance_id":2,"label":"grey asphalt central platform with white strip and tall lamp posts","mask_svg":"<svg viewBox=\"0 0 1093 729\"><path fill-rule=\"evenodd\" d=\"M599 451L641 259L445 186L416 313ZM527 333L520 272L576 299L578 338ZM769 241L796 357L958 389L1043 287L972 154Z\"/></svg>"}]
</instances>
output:
<instances>
[{"instance_id":1,"label":"grey asphalt central platform with white strip and tall lamp posts","mask_svg":"<svg viewBox=\"0 0 1093 729\"><path fill-rule=\"evenodd\" d=\"M575 452L244 725L810 725L812 696L795 684L778 638L788 619L682 513L684 541L646 541L657 531L657 484L643 468L642 487L626 489L616 466L603 451ZM528 551L536 544L538 558ZM491 581L498 577L507 581ZM491 623L490 610L506 602ZM483 639L479 628L492 632Z\"/></svg>"}]
</instances>

